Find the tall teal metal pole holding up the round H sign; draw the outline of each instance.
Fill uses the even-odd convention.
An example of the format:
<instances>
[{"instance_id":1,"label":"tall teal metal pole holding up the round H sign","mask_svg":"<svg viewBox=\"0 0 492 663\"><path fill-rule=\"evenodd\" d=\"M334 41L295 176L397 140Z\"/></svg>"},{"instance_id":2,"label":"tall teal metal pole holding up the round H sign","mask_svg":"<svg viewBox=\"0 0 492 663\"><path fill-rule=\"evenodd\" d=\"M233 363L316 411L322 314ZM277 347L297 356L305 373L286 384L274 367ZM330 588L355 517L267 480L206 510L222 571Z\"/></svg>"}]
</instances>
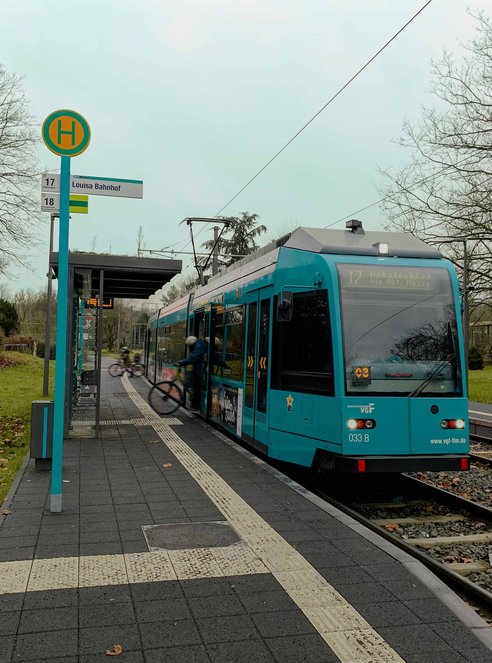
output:
<instances>
[{"instance_id":1,"label":"tall teal metal pole holding up the round H sign","mask_svg":"<svg viewBox=\"0 0 492 663\"><path fill-rule=\"evenodd\" d=\"M65 428L65 379L68 319L68 224L70 206L70 157L61 157L60 229L58 248L58 303L56 307L55 408L51 462L50 511L62 510L63 433Z\"/></svg>"}]
</instances>

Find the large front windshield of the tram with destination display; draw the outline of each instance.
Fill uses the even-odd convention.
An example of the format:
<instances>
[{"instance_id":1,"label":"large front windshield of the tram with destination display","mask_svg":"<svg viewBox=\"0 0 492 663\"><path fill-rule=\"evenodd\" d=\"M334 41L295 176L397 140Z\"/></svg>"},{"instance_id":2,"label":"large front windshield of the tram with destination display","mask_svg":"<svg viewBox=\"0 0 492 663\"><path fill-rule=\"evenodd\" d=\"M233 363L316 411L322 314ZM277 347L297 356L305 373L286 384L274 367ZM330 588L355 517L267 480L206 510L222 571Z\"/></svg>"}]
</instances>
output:
<instances>
[{"instance_id":1,"label":"large front windshield of the tram with destination display","mask_svg":"<svg viewBox=\"0 0 492 663\"><path fill-rule=\"evenodd\" d=\"M461 395L447 269L337 265L347 394Z\"/></svg>"}]
</instances>

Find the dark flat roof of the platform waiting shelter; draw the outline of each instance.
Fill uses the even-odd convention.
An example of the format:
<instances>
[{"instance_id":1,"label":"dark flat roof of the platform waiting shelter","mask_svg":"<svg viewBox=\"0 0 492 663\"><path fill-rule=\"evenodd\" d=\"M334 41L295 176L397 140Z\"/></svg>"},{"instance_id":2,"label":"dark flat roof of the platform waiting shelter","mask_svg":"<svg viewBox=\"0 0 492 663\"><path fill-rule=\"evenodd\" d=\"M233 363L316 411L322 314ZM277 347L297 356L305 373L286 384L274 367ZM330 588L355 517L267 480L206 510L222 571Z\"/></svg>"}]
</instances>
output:
<instances>
[{"instance_id":1,"label":"dark flat roof of the platform waiting shelter","mask_svg":"<svg viewBox=\"0 0 492 663\"><path fill-rule=\"evenodd\" d=\"M50 266L58 277L58 253L51 254ZM147 299L181 273L182 263L162 258L69 253L69 267L74 268L76 290L99 292L102 270L104 297Z\"/></svg>"}]
</instances>

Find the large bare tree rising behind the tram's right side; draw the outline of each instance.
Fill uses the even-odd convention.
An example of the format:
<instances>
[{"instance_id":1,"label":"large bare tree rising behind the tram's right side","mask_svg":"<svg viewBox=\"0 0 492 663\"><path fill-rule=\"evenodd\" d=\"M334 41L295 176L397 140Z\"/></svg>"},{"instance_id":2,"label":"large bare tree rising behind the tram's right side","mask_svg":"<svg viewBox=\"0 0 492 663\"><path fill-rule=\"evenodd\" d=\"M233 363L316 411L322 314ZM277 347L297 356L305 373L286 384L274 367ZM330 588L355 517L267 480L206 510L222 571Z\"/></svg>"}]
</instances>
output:
<instances>
[{"instance_id":1,"label":"large bare tree rising behind the tram's right side","mask_svg":"<svg viewBox=\"0 0 492 663\"><path fill-rule=\"evenodd\" d=\"M492 287L492 23L475 16L477 34L461 62L445 53L433 64L437 108L424 108L421 121L405 122L400 144L409 164L386 172L382 190L387 229L411 232L428 242L467 237L473 299ZM463 243L441 243L463 269Z\"/></svg>"}]
</instances>

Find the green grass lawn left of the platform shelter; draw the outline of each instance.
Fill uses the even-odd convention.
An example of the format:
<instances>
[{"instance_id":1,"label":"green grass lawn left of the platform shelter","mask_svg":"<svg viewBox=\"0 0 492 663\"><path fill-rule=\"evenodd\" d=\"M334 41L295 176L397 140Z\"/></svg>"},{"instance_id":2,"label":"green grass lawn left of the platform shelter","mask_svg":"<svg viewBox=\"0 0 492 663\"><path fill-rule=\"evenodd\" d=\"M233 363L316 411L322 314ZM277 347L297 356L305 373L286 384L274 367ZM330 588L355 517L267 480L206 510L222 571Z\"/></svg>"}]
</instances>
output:
<instances>
[{"instance_id":1,"label":"green grass lawn left of the platform shelter","mask_svg":"<svg viewBox=\"0 0 492 663\"><path fill-rule=\"evenodd\" d=\"M50 361L53 398L54 361ZM0 352L0 505L29 450L31 402L43 399L43 359Z\"/></svg>"}]
</instances>

